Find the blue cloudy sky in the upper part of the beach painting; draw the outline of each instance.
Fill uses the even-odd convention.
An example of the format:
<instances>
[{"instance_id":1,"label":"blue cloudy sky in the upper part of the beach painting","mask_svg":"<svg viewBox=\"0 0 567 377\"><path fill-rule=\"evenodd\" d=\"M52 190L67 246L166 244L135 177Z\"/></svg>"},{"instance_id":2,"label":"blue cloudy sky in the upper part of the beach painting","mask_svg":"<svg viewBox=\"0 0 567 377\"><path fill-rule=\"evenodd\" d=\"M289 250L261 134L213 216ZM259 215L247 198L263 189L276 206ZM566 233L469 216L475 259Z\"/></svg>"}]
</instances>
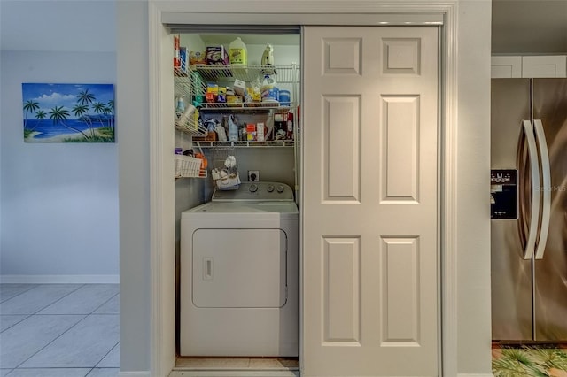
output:
<instances>
[{"instance_id":1,"label":"blue cloudy sky in the upper part of the beach painting","mask_svg":"<svg viewBox=\"0 0 567 377\"><path fill-rule=\"evenodd\" d=\"M89 94L95 96L93 103L89 104L89 114L95 113L92 110L92 104L100 102L107 105L108 101L114 99L113 84L23 83L22 106L29 100L35 101L39 105L39 110L43 110L46 114L49 114L55 106L63 106L70 112L68 119L76 119L73 108L77 104L77 95L86 89L89 90ZM25 112L24 116L26 116ZM27 119L34 118L34 114L27 113Z\"/></svg>"}]
</instances>

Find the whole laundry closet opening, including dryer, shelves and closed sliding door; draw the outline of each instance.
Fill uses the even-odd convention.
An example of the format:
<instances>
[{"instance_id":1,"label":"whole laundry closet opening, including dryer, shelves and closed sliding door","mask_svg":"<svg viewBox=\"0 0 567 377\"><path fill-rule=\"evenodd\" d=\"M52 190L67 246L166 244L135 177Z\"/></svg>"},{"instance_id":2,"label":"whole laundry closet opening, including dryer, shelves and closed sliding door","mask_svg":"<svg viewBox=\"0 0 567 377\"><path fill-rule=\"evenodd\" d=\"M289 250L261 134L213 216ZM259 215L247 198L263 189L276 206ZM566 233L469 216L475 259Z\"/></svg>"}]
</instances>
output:
<instances>
[{"instance_id":1,"label":"whole laundry closet opening, including dryer, shelves and closed sliding door","mask_svg":"<svg viewBox=\"0 0 567 377\"><path fill-rule=\"evenodd\" d=\"M435 22L168 26L172 376L438 373Z\"/></svg>"}]
</instances>

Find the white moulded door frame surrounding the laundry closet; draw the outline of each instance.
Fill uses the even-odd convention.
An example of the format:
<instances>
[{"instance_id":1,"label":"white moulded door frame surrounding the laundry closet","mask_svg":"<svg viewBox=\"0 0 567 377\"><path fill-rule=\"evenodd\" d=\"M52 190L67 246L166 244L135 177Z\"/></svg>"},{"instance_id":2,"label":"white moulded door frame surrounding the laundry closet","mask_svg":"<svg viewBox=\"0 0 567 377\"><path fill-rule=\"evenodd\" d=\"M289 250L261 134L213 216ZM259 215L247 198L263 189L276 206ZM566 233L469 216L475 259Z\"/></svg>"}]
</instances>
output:
<instances>
[{"instance_id":1,"label":"white moulded door frame surrounding the laundry closet","mask_svg":"<svg viewBox=\"0 0 567 377\"><path fill-rule=\"evenodd\" d=\"M237 3L237 4L235 4ZM330 3L330 2L329 2ZM261 23L274 19L282 24L308 25L324 19L327 26L377 25L385 22L414 21L423 25L422 16L442 15L439 41L439 127L440 127L440 318L439 371L457 375L457 4L458 0L435 0L427 4L400 1L345 2L326 4L322 1L229 2L229 1L149 1L149 124L150 124L150 253L151 253L151 375L166 376L175 366L175 203L171 160L174 138L173 112L167 111L173 93L169 70L172 49L167 43L167 30L162 16L176 13L180 19L197 14L201 22L213 17L218 24L245 24L256 19ZM289 12L293 9L294 12ZM353 13L353 9L356 13ZM218 12L222 10L223 12ZM238 12L238 22L231 12ZM392 19L397 19L396 21ZM253 23L253 22L252 22ZM169 77L168 77L169 76ZM301 232L301 231L300 231ZM451 252L447 252L450 250ZM300 251L301 252L301 251ZM300 271L300 275L302 273ZM300 279L301 280L301 279ZM300 288L301 289L301 288ZM302 313L299 314L300 326ZM300 346L301 347L301 346Z\"/></svg>"}]
</instances>

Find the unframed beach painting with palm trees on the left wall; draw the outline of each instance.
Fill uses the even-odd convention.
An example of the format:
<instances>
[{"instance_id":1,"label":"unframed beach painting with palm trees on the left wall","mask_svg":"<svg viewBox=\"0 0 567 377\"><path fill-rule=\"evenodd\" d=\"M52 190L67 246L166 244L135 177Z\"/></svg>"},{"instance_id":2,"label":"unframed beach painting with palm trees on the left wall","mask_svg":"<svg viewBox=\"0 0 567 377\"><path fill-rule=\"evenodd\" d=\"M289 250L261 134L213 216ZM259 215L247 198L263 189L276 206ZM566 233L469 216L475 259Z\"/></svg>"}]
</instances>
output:
<instances>
[{"instance_id":1,"label":"unframed beach painting with palm trees on the left wall","mask_svg":"<svg viewBox=\"0 0 567 377\"><path fill-rule=\"evenodd\" d=\"M113 84L21 86L24 142L114 142Z\"/></svg>"}]
</instances>

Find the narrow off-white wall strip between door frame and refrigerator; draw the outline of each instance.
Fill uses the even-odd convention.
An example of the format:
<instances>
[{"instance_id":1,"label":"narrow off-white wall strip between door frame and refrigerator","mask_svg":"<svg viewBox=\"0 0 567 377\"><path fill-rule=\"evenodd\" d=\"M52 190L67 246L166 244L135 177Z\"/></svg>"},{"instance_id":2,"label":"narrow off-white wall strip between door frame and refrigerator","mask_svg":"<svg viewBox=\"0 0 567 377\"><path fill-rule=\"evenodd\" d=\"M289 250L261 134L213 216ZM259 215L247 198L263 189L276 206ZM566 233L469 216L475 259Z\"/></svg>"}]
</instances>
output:
<instances>
[{"instance_id":1,"label":"narrow off-white wall strip between door frame and refrigerator","mask_svg":"<svg viewBox=\"0 0 567 377\"><path fill-rule=\"evenodd\" d=\"M490 373L490 2L459 3L457 365Z\"/></svg>"}]
</instances>

